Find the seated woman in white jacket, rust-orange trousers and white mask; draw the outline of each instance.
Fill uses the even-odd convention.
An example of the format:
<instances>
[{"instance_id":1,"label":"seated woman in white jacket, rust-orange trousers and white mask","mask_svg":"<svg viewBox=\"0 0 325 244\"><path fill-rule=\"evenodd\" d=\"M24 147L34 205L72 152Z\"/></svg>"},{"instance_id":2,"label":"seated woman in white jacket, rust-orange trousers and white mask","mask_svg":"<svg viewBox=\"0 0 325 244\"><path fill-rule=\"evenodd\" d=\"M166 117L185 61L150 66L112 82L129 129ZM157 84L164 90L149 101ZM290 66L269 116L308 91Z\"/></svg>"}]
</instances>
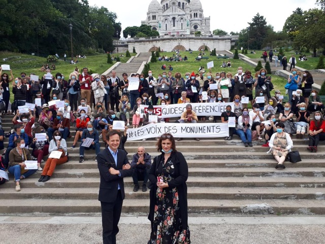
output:
<instances>
[{"instance_id":1,"label":"seated woman in white jacket, rust-orange trousers and white mask","mask_svg":"<svg viewBox=\"0 0 325 244\"><path fill-rule=\"evenodd\" d=\"M50 141L49 153L51 154L52 151L60 151L62 154L59 159L49 157L46 160L39 182L48 181L51 178L56 165L60 165L68 162L67 142L62 138L62 135L59 131L54 131L54 139Z\"/></svg>"}]
</instances>

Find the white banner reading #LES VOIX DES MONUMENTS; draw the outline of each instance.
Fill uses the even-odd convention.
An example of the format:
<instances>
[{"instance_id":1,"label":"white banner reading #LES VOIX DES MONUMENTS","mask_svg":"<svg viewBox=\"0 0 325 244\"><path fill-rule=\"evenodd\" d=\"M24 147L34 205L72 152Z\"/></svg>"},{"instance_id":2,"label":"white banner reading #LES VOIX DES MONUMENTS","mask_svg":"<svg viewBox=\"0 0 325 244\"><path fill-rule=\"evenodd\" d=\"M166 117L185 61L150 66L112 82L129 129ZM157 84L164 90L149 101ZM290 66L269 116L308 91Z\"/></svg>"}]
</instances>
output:
<instances>
[{"instance_id":1,"label":"white banner reading #LES VOIX DES MONUMENTS","mask_svg":"<svg viewBox=\"0 0 325 244\"><path fill-rule=\"evenodd\" d=\"M215 138L229 136L229 128L228 123L152 123L143 127L128 129L127 140L154 138L164 133L171 133L174 137L182 138Z\"/></svg>"}]
</instances>

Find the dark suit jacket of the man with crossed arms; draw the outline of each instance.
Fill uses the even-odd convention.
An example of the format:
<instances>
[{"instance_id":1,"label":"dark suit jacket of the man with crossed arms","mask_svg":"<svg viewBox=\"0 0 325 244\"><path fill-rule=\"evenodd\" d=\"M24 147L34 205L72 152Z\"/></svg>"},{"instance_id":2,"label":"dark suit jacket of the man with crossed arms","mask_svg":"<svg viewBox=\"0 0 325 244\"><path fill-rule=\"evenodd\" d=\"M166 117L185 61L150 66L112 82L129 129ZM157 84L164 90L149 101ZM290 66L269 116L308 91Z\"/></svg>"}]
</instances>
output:
<instances>
[{"instance_id":1,"label":"dark suit jacket of the man with crossed arms","mask_svg":"<svg viewBox=\"0 0 325 244\"><path fill-rule=\"evenodd\" d=\"M125 151L118 149L117 167L121 176L110 174L109 166L105 163L115 164L110 150L106 147L97 155L97 165L101 174L100 193L98 200L101 202L114 202L117 197L118 185L121 188L122 199L125 198L123 177L132 176L132 169L123 170L124 164L128 164Z\"/></svg>"}]
</instances>

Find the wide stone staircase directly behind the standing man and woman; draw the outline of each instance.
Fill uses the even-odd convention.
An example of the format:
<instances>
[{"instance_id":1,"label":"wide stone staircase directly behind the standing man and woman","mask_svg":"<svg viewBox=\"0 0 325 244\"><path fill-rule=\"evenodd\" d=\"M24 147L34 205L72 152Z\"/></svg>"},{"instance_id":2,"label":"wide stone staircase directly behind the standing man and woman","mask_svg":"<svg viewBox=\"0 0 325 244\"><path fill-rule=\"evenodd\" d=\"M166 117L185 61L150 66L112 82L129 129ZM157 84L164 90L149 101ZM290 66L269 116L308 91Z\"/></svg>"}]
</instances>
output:
<instances>
[{"instance_id":1,"label":"wide stone staircase directly behind the standing man and woman","mask_svg":"<svg viewBox=\"0 0 325 244\"><path fill-rule=\"evenodd\" d=\"M2 116L3 128L8 132L13 116ZM71 128L72 135L75 134ZM305 136L307 138L307 136ZM321 142L317 153L306 150L308 140L293 139L302 162L286 162L286 169L274 167L276 161L266 154L269 148L254 141L244 147L238 137L184 139L177 141L189 166L188 211L190 214L325 214L325 145ZM13 176L0 186L1 214L32 215L96 215L100 175L94 161L94 150L85 152L79 163L79 145L72 149L73 138L67 140L70 161L57 166L47 182L38 182L41 172L21 181L21 191L15 192ZM5 145L8 138L5 138ZM129 160L137 147L144 145L152 158L158 155L156 141L127 141ZM101 148L104 148L102 143ZM44 166L44 163L42 164ZM123 212L128 215L147 214L149 191L133 192L132 177L124 179Z\"/></svg>"}]
</instances>

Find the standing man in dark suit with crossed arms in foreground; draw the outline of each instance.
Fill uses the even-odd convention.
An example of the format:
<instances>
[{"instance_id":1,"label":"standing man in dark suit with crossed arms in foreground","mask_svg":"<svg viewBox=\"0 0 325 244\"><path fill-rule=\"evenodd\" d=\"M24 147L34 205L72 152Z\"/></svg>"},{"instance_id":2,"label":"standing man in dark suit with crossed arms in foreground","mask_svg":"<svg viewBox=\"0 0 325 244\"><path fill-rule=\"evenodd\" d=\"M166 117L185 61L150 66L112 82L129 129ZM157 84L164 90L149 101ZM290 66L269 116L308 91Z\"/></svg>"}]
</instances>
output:
<instances>
[{"instance_id":1,"label":"standing man in dark suit with crossed arms in foreground","mask_svg":"<svg viewBox=\"0 0 325 244\"><path fill-rule=\"evenodd\" d=\"M116 244L124 193L123 177L132 176L125 151L118 150L121 135L110 131L106 135L108 147L96 159L101 174L99 201L102 206L103 243Z\"/></svg>"}]
</instances>

